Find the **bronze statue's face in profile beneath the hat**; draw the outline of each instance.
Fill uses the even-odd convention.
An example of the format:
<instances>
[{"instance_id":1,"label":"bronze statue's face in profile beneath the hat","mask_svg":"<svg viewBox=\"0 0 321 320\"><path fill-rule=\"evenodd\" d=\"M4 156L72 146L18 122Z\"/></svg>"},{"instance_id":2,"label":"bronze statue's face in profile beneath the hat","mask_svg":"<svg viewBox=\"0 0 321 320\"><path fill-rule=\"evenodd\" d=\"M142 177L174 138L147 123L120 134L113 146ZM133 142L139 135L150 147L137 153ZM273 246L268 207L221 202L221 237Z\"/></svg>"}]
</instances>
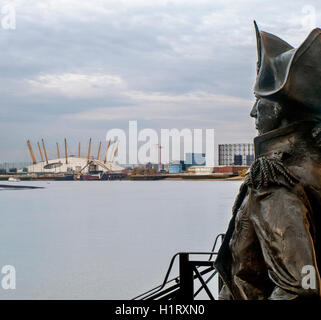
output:
<instances>
[{"instance_id":1,"label":"bronze statue's face in profile beneath the hat","mask_svg":"<svg viewBox=\"0 0 321 320\"><path fill-rule=\"evenodd\" d=\"M250 116L255 118L255 127L259 134L263 134L281 125L281 106L277 102L257 97Z\"/></svg>"}]
</instances>

